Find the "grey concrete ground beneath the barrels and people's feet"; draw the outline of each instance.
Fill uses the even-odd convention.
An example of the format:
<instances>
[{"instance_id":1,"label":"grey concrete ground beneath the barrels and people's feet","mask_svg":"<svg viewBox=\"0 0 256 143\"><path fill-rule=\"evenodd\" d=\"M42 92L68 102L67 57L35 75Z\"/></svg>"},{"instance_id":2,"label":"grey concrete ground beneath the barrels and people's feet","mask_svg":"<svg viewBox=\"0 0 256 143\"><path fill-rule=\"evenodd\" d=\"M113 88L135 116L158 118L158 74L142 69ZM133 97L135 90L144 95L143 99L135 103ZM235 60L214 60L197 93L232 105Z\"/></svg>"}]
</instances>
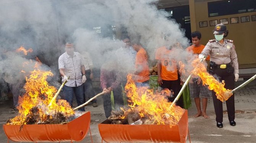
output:
<instances>
[{"instance_id":1,"label":"grey concrete ground beneath the barrels and people's feet","mask_svg":"<svg viewBox=\"0 0 256 143\"><path fill-rule=\"evenodd\" d=\"M236 86L242 84L244 81L236 82ZM207 114L209 119L204 117L193 117L196 114L196 106L192 101L192 107L188 109L188 124L190 132L191 143L254 143L256 142L256 80L246 85L235 94L235 108L237 125L230 126L228 122L227 113L225 113L222 129L216 127L215 113L212 99L208 100ZM3 124L8 118L16 116L16 113L11 112L12 101L7 101L0 104L0 143L7 143L7 137L3 132ZM105 120L103 100L98 98L98 107L93 108L91 104L86 106L86 111L91 111L91 133L94 143L101 143L98 124ZM9 141L14 143L13 141ZM83 143L90 143L91 138L88 132L84 138ZM186 143L189 143L189 137Z\"/></svg>"}]
</instances>

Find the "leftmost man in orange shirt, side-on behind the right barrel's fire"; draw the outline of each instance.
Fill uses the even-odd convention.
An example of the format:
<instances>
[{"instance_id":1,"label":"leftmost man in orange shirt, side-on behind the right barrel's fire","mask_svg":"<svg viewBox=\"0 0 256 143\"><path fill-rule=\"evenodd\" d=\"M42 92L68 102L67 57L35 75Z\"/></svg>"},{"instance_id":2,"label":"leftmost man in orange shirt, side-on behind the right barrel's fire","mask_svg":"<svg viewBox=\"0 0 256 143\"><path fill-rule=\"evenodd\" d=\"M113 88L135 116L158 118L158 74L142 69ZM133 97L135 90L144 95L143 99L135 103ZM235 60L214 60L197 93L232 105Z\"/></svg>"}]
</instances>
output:
<instances>
[{"instance_id":1,"label":"leftmost man in orange shirt, side-on behind the right barrel's fire","mask_svg":"<svg viewBox=\"0 0 256 143\"><path fill-rule=\"evenodd\" d=\"M135 58L134 81L137 87L149 87L149 66L147 63L147 52L141 46L139 39L132 41L132 46L137 51Z\"/></svg>"}]
</instances>

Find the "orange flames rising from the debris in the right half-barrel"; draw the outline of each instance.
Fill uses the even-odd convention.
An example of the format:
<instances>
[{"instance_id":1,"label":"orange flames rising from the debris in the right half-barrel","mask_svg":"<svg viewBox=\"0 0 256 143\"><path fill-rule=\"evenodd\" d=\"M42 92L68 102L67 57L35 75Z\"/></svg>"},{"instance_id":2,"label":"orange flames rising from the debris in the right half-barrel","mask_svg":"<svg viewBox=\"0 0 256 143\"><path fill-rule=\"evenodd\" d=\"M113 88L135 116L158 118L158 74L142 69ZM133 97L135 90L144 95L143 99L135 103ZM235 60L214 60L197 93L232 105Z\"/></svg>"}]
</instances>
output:
<instances>
[{"instance_id":1,"label":"orange flames rising from the debris in the right half-barrel","mask_svg":"<svg viewBox=\"0 0 256 143\"><path fill-rule=\"evenodd\" d=\"M153 124L170 124L171 126L178 123L185 109L176 105L169 108L172 103L168 102L165 96L160 93L154 94L153 90L146 87L137 88L131 74L128 74L127 80L125 91L130 99L130 110L138 112L141 118L149 117L154 121Z\"/></svg>"}]
</instances>

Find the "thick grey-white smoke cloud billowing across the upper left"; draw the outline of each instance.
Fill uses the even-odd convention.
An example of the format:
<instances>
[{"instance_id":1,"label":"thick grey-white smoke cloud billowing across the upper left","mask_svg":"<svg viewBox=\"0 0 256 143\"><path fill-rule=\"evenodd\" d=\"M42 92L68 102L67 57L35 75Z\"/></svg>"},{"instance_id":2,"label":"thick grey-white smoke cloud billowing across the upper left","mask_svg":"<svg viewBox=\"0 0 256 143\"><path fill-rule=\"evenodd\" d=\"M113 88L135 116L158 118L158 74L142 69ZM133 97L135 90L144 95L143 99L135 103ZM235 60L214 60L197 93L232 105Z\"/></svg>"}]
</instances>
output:
<instances>
[{"instance_id":1,"label":"thick grey-white smoke cloud billowing across the upper left","mask_svg":"<svg viewBox=\"0 0 256 143\"><path fill-rule=\"evenodd\" d=\"M158 10L158 0L2 0L0 2L0 77L7 73L12 81L19 80L21 70L31 71L23 63L37 56L59 79L58 57L64 45L72 41L76 51L91 54L94 67L100 69L107 61L128 61L118 56L118 48L125 43L120 35L141 37L140 43L154 61L158 47L180 43L185 48L189 40L184 30L169 13ZM96 28L98 27L98 28ZM100 27L100 28L99 28ZM119 39L117 39L117 37ZM27 56L16 53L20 46L32 48ZM192 55L184 49L175 50L173 58L187 64ZM132 62L128 62L132 63ZM113 65L114 67L114 65ZM130 71L133 66L120 70ZM2 81L2 80L1 80ZM7 82L7 80L5 81ZM5 83L1 83L2 85Z\"/></svg>"}]
</instances>

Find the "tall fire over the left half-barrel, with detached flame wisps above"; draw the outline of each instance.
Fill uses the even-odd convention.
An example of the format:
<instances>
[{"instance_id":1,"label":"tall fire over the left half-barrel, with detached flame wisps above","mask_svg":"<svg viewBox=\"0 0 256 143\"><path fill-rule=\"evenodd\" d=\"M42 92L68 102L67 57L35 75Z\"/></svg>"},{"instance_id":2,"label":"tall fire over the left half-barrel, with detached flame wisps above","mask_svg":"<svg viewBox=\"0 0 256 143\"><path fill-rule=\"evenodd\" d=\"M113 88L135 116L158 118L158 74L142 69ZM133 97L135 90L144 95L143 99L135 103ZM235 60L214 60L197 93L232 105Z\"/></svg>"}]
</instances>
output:
<instances>
[{"instance_id":1,"label":"tall fire over the left half-barrel, with detached flame wisps above","mask_svg":"<svg viewBox=\"0 0 256 143\"><path fill-rule=\"evenodd\" d=\"M32 49L26 51L22 46L16 51L32 52ZM23 63L23 67L30 64L34 65L34 71L26 77L24 89L26 93L23 97L19 97L18 116L7 121L7 125L26 125L26 124L54 124L66 121L67 117L75 114L74 110L66 100L55 100L50 104L53 96L57 92L56 88L49 86L46 81L48 76L53 76L50 71L42 71L39 66L41 61L36 57L36 61L32 60ZM25 71L21 71L25 73ZM50 104L50 105L49 105ZM55 121L55 120L58 121Z\"/></svg>"}]
</instances>

